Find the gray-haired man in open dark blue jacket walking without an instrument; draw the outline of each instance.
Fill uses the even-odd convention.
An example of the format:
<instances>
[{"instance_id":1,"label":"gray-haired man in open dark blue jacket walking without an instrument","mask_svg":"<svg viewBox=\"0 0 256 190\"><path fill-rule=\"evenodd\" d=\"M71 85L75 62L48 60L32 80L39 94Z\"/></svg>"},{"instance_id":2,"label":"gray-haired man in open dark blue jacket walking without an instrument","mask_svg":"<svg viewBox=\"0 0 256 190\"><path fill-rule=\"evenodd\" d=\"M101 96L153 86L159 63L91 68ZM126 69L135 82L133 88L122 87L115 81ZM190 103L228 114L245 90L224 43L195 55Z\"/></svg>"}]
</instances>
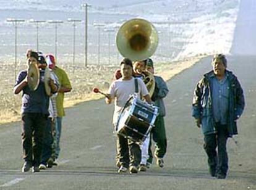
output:
<instances>
[{"instance_id":1,"label":"gray-haired man in open dark blue jacket walking without an instrument","mask_svg":"<svg viewBox=\"0 0 256 190\"><path fill-rule=\"evenodd\" d=\"M245 103L237 77L226 70L226 57L216 54L211 65L213 70L203 75L195 88L192 116L204 135L203 148L208 156L210 175L223 179L228 172L226 143L237 134L236 121Z\"/></svg>"}]
</instances>

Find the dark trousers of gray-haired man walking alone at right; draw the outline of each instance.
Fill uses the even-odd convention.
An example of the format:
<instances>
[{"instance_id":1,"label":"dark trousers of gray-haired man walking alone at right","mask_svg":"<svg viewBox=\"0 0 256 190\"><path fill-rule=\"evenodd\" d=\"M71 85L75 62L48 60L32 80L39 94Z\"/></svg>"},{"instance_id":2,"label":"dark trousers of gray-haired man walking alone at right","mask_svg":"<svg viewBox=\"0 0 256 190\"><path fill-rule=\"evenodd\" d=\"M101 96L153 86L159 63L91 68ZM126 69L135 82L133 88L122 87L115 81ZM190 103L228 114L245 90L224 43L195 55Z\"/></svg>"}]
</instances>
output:
<instances>
[{"instance_id":1,"label":"dark trousers of gray-haired man walking alone at right","mask_svg":"<svg viewBox=\"0 0 256 190\"><path fill-rule=\"evenodd\" d=\"M211 170L216 170L216 174L226 175L228 171L227 125L216 123L216 131L216 134L205 135L203 148L208 155L208 165ZM218 152L216 148L218 148Z\"/></svg>"}]
</instances>

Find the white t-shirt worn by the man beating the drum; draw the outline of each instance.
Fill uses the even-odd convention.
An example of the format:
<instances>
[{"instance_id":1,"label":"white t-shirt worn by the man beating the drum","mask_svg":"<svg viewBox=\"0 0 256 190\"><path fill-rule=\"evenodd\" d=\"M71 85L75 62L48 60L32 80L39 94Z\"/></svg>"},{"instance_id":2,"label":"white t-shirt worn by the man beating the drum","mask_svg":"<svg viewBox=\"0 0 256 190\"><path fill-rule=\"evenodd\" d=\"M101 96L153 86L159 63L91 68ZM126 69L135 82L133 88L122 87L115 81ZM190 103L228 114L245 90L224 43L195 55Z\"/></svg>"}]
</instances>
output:
<instances>
[{"instance_id":1,"label":"white t-shirt worn by the man beating the drum","mask_svg":"<svg viewBox=\"0 0 256 190\"><path fill-rule=\"evenodd\" d=\"M141 96L146 96L148 94L148 89L145 83L140 79L138 80L138 98ZM115 125L118 119L118 116L122 110L122 107L127 102L127 99L135 93L135 79L132 77L130 80L119 80L113 81L111 86L108 89L108 94L110 94L111 98L115 98L114 100L114 115L113 115L113 124Z\"/></svg>"}]
</instances>

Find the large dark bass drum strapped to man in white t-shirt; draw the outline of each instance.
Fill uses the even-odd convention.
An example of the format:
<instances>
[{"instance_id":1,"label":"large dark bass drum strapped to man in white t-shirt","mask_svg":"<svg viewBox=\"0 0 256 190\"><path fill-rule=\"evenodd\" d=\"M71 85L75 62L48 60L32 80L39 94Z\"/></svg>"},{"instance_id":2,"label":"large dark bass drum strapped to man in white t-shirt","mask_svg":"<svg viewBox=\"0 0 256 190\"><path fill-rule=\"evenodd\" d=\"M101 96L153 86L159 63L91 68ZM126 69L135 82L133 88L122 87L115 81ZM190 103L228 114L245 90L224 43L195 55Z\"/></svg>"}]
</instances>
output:
<instances>
[{"instance_id":1,"label":"large dark bass drum strapped to man in white t-shirt","mask_svg":"<svg viewBox=\"0 0 256 190\"><path fill-rule=\"evenodd\" d=\"M119 114L115 133L143 142L153 128L157 115L158 107L131 96Z\"/></svg>"}]
</instances>

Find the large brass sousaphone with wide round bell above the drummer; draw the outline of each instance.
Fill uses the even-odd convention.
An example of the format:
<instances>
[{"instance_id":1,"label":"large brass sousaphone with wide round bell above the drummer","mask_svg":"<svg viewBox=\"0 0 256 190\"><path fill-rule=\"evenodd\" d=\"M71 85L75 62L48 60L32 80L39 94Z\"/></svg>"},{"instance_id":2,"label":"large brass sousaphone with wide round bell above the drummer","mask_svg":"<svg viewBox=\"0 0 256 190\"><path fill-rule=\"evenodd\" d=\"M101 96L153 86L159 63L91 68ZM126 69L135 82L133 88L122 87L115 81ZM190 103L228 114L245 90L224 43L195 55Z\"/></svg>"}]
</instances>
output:
<instances>
[{"instance_id":1,"label":"large brass sousaphone with wide round bell above the drummer","mask_svg":"<svg viewBox=\"0 0 256 190\"><path fill-rule=\"evenodd\" d=\"M158 46L158 32L152 23L144 19L131 19L123 23L116 34L116 46L123 57L142 61L151 57ZM152 73L143 71L143 81L150 97L155 89Z\"/></svg>"}]
</instances>

